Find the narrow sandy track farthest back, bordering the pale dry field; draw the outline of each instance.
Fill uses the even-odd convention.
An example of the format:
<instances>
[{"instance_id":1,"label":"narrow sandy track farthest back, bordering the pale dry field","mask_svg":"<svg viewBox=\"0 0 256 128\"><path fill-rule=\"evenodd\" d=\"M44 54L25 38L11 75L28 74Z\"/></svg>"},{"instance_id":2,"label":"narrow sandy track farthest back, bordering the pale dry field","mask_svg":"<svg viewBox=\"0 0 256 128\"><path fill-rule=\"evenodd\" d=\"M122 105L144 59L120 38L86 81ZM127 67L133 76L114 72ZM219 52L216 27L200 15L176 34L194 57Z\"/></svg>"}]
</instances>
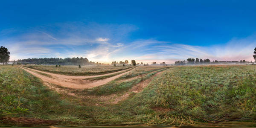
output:
<instances>
[{"instance_id":1,"label":"narrow sandy track farthest back, bordering the pale dry field","mask_svg":"<svg viewBox=\"0 0 256 128\"><path fill-rule=\"evenodd\" d=\"M44 72L44 71L41 71L41 70L35 70L35 69L29 68L29 67L25 67L25 68L28 68L29 70L37 71L37 72L40 72L40 73L45 73L45 74L51 75L53 77L58 77L58 78L64 78L64 79L87 79L87 78L93 78L93 77L99 77L99 76L108 76L108 75L112 75L112 74L115 74L115 73L124 72L124 71L127 71L127 70L131 70L131 68L133 68L133 67L128 68L126 70L121 70L121 71L118 71L118 72L114 72L114 73L107 73L107 74L95 75L95 76L67 76L67 75L60 75L60 74L55 74L55 73Z\"/></svg>"}]
</instances>

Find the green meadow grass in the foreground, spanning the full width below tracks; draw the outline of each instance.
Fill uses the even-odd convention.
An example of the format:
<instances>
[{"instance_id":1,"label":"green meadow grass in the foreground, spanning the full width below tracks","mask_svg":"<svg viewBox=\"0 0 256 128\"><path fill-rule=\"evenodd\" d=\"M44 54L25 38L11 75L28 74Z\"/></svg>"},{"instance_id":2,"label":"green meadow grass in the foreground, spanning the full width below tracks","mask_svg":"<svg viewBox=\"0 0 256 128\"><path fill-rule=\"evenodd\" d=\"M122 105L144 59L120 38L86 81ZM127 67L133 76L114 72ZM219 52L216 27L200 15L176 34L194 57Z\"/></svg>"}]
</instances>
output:
<instances>
[{"instance_id":1,"label":"green meadow grass in the foreground, spanning the full width below tracks","mask_svg":"<svg viewBox=\"0 0 256 128\"><path fill-rule=\"evenodd\" d=\"M142 92L117 104L104 99L122 95L160 71ZM92 88L90 93L62 88L84 96L76 97L50 90L17 66L0 66L0 118L58 120L55 125L256 126L255 65L159 67L145 72L131 81L114 80Z\"/></svg>"}]
</instances>

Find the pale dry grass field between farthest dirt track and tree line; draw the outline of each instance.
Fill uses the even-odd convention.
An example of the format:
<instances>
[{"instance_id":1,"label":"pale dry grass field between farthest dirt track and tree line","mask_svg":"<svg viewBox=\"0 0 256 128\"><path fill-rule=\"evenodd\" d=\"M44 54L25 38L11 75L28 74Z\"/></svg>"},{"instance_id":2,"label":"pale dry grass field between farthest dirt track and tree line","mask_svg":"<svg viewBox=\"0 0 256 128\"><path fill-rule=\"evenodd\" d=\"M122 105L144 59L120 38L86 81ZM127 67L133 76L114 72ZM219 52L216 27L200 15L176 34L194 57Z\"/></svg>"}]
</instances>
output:
<instances>
[{"instance_id":1,"label":"pale dry grass field between farthest dirt track and tree line","mask_svg":"<svg viewBox=\"0 0 256 128\"><path fill-rule=\"evenodd\" d=\"M61 66L55 67L54 65L24 65L24 67L29 67L35 70L41 70L49 73L56 73L61 75L69 76L93 76L102 75L107 73L114 73L121 70L129 69L133 66L111 66L111 65L100 65L100 66Z\"/></svg>"}]
</instances>

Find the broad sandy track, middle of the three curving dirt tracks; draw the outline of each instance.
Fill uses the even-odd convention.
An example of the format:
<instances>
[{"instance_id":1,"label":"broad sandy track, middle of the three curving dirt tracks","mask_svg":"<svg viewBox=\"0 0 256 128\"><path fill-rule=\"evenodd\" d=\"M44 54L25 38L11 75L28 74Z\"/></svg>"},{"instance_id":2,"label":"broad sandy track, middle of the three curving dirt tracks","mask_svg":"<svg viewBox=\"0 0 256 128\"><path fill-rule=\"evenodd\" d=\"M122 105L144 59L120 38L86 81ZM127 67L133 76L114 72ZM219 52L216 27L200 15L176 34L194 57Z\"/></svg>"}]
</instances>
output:
<instances>
[{"instance_id":1,"label":"broad sandy track, middle of the three curving dirt tracks","mask_svg":"<svg viewBox=\"0 0 256 128\"><path fill-rule=\"evenodd\" d=\"M62 87L68 87L68 88L74 88L74 89L84 89L84 88L92 88L92 87L97 87L97 86L100 86L100 85L103 85L103 84L106 84L122 75L125 75L126 73L129 73L131 72L132 70L129 70L128 72L125 72L125 73L121 73L119 75L116 75L116 76L113 76L113 77L110 77L110 78L107 78L107 79L103 79L103 80L99 80L99 81L95 81L95 82L90 82L90 81L86 81L86 80L82 80L82 79L79 79L79 80L75 80L75 81L67 81L67 79L63 79L61 78L61 76L64 76L64 75L58 75L58 79L55 79L55 78L50 78L50 77L47 77L47 76L44 76L44 75L41 75L39 73L36 73L36 72L39 72L38 70L34 70L36 72L33 72L26 68L23 68L23 67L20 67L21 69L25 70L26 72L28 73L31 73L32 75L42 79L43 81L45 82L49 82L49 83L52 83L52 84L56 84L56 85L59 85L59 86L62 86ZM41 72L41 71L40 71ZM41 72L41 73L45 73L45 72ZM116 72L118 73L118 72ZM48 74L48 73L46 73ZM52 75L53 73L50 73L48 75ZM112 73L109 73L109 74L112 74ZM55 74L57 75L57 74ZM101 76L101 75L99 75ZM55 76L56 77L56 76ZM76 76L74 76L76 77ZM72 77L70 77L70 79L73 79Z\"/></svg>"}]
</instances>

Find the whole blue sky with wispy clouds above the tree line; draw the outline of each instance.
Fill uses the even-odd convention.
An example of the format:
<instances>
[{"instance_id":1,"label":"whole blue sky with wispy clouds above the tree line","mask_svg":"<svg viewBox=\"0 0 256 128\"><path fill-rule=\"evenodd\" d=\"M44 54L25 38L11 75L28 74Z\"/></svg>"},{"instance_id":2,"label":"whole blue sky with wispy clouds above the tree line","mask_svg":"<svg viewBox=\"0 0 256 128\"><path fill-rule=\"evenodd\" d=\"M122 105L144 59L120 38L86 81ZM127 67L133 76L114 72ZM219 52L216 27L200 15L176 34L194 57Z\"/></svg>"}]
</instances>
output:
<instances>
[{"instance_id":1,"label":"whole blue sky with wispy clouds above the tree line","mask_svg":"<svg viewBox=\"0 0 256 128\"><path fill-rule=\"evenodd\" d=\"M10 60L253 61L255 0L2 0Z\"/></svg>"}]
</instances>

